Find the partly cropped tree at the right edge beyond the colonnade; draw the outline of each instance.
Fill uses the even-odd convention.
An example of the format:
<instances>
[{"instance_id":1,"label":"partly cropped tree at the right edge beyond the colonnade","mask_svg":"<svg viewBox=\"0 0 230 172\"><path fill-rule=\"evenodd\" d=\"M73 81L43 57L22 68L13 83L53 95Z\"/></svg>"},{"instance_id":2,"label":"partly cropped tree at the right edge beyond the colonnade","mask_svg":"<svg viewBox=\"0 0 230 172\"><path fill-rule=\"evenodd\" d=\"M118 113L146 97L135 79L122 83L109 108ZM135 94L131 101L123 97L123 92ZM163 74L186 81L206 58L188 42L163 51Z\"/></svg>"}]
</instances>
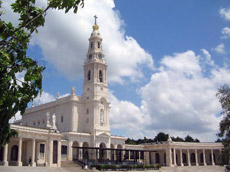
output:
<instances>
[{"instance_id":1,"label":"partly cropped tree at the right edge beyond the colonnade","mask_svg":"<svg viewBox=\"0 0 230 172\"><path fill-rule=\"evenodd\" d=\"M222 107L223 119L220 121L218 136L222 140L220 161L223 165L230 164L230 87L224 85L218 89L217 97Z\"/></svg>"}]
</instances>

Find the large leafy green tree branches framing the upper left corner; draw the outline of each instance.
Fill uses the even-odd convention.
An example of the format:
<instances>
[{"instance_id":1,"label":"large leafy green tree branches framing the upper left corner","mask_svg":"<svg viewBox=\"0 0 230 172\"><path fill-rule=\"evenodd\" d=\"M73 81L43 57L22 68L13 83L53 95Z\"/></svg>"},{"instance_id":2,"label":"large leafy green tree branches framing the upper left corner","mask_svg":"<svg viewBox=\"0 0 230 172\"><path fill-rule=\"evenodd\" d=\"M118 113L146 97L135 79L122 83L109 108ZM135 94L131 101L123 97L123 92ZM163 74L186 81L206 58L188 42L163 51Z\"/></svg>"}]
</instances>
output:
<instances>
[{"instance_id":1,"label":"large leafy green tree branches framing the upper left corner","mask_svg":"<svg viewBox=\"0 0 230 172\"><path fill-rule=\"evenodd\" d=\"M0 0L0 15L2 15ZM76 13L84 6L84 0L48 0L45 9L35 5L35 0L15 0L11 8L19 14L19 24L0 19L0 146L17 133L10 129L9 120L17 112L24 113L28 102L42 91L44 67L27 56L31 35L44 26L49 9L70 9ZM24 74L22 80L18 74Z\"/></svg>"}]
</instances>

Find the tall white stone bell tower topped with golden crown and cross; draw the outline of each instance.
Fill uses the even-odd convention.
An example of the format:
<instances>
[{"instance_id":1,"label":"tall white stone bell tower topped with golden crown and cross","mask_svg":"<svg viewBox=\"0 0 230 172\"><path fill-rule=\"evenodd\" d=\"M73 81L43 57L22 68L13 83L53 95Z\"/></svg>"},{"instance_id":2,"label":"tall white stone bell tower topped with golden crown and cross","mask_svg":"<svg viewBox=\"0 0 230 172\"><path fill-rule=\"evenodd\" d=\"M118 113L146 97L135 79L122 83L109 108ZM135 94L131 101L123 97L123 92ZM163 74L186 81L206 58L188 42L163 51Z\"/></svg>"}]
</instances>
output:
<instances>
[{"instance_id":1,"label":"tall white stone bell tower topped with golden crown and cross","mask_svg":"<svg viewBox=\"0 0 230 172\"><path fill-rule=\"evenodd\" d=\"M97 16L89 38L89 48L84 63L82 101L85 106L85 132L110 135L107 64L102 48L102 37Z\"/></svg>"}]
</instances>

